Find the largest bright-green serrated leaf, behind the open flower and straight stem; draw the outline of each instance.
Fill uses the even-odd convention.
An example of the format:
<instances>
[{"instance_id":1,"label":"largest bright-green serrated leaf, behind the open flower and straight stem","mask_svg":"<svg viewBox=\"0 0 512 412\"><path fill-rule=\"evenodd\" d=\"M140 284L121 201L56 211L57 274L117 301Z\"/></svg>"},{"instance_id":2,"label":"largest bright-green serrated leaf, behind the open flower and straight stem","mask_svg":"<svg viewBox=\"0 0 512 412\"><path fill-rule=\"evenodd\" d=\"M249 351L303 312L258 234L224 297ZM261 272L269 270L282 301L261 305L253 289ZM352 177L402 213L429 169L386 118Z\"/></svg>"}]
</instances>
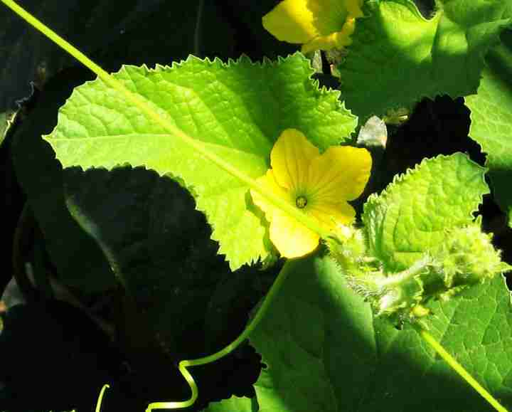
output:
<instances>
[{"instance_id":1,"label":"largest bright-green serrated leaf, behind the open flower and straight stem","mask_svg":"<svg viewBox=\"0 0 512 412\"><path fill-rule=\"evenodd\" d=\"M124 66L114 77L209 152L257 178L288 127L302 130L321 149L353 131L355 117L338 102L339 93L320 90L311 74L308 60L297 53L262 64L240 58L225 65L191 57L170 68ZM206 213L219 253L232 269L267 257L266 229L250 211L248 186L169 135L102 81L75 89L46 139L64 167L111 169L128 162L178 176Z\"/></svg>"}]
</instances>

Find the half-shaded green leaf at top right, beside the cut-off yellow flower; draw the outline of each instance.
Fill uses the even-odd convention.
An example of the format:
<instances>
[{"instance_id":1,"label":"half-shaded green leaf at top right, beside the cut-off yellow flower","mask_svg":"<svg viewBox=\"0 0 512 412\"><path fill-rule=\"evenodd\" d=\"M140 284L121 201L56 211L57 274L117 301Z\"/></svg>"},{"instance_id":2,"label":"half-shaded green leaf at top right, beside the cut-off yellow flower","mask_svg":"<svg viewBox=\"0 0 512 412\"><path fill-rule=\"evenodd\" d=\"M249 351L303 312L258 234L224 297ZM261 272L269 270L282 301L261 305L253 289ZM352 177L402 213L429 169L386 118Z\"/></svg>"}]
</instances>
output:
<instances>
[{"instance_id":1,"label":"half-shaded green leaf at top right, beside the cut-off yellow flower","mask_svg":"<svg viewBox=\"0 0 512 412\"><path fill-rule=\"evenodd\" d=\"M474 93L484 54L510 22L511 0L439 1L424 19L410 0L375 0L339 67L346 105L363 118L422 97Z\"/></svg>"}]
</instances>

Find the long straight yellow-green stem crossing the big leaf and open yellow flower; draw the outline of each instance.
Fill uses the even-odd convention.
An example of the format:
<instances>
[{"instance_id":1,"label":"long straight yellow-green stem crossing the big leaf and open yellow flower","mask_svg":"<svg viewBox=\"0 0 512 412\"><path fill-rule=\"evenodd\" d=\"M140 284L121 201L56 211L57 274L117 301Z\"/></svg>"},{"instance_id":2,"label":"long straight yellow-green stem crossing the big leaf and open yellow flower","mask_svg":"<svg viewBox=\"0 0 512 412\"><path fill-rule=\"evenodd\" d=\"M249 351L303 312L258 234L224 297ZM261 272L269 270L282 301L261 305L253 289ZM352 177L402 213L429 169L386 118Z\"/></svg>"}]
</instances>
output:
<instances>
[{"instance_id":1,"label":"long straight yellow-green stem crossing the big leaf and open yellow flower","mask_svg":"<svg viewBox=\"0 0 512 412\"><path fill-rule=\"evenodd\" d=\"M188 136L188 134L184 133L183 131L179 130L176 126L172 125L171 122L160 117L158 113L154 112L154 110L151 109L151 106L147 104L146 100L142 99L142 97L140 97L139 95L130 92L127 88L124 87L123 83L113 78L99 65L94 63L92 60L90 60L90 58L87 58L85 54L83 54L81 51L75 48L75 46L68 43L68 41L65 41L62 37L55 33L55 31L45 26L44 23L36 19L36 17L32 16L25 9L21 8L21 6L18 6L18 4L16 4L15 1L0 1L4 3L6 6L8 6L9 9L18 14L18 16L20 16L22 19L31 24L31 26L36 28L38 31L41 31L41 33L43 33L46 37L50 38L50 40L56 43L58 46L60 46L60 48L63 48L63 50L67 51L71 56L80 61L80 63L85 65L85 67L92 70L92 72L94 72L98 76L98 78L100 78L103 82L105 82L114 90L117 90L119 93L122 93L126 100L132 102L132 104L135 105L141 112L143 112L144 115L151 118L151 120L159 124L167 132L174 135L174 137L181 139L181 141L185 144L188 144L188 146L193 147L193 149L195 149L199 154L201 154L206 159L210 160L210 162L216 164L218 167L220 167L220 169L227 171L232 176L235 176L237 179L247 184L247 186L249 186L251 189L257 191L257 193L265 197L267 201L270 201L270 203L274 204L274 206L276 206L277 208L281 208L283 211L288 213L289 216L293 216L294 218L296 218L297 221L302 223L304 226L306 226L306 228L309 228L311 231L316 232L321 238L326 238L326 236L328 236L328 232L324 228L321 228L319 223L317 223L316 220L314 220L314 218L306 216L306 214L302 213L297 208L289 204L287 201L284 201L284 199L281 199L279 196L276 196L272 192L265 191L264 189L262 189L260 184L258 184L257 181L255 181L255 179L252 179L250 176L247 176L247 174L240 172L238 169L231 166L228 162L225 162L221 157L218 157L215 153L208 152L208 149L206 149L203 146L203 143L201 141L193 139L192 137Z\"/></svg>"}]
</instances>

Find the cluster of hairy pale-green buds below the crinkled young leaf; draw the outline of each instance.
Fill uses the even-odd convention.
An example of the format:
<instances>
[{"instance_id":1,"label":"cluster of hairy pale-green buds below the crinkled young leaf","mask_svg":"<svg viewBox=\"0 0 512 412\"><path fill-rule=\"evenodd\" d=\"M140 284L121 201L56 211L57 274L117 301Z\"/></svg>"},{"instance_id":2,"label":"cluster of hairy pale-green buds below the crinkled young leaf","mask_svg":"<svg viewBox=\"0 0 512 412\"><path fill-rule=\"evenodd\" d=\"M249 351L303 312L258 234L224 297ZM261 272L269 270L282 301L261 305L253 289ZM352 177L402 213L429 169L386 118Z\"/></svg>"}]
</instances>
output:
<instances>
[{"instance_id":1,"label":"cluster of hairy pale-green buds below the crinkled young leaf","mask_svg":"<svg viewBox=\"0 0 512 412\"><path fill-rule=\"evenodd\" d=\"M395 272L371 255L362 229L338 226L326 243L348 285L370 302L375 315L402 322L427 315L425 305L432 299L447 300L512 269L501 261L492 235L483 233L480 223L477 219L447 230L444 242L426 250L409 268Z\"/></svg>"}]
</instances>

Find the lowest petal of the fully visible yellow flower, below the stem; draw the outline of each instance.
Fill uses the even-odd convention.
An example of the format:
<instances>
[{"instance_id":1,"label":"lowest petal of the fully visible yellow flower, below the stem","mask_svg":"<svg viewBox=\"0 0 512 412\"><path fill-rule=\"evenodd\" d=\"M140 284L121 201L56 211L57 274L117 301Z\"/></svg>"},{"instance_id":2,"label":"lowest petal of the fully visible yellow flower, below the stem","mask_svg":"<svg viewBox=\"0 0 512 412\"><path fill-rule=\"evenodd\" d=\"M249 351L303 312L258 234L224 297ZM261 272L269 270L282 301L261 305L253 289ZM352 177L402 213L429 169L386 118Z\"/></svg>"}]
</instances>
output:
<instances>
[{"instance_id":1,"label":"lowest petal of the fully visible yellow flower, below the stem","mask_svg":"<svg viewBox=\"0 0 512 412\"><path fill-rule=\"evenodd\" d=\"M276 213L270 223L270 240L284 258L299 258L315 250L320 237L296 219Z\"/></svg>"}]
</instances>

